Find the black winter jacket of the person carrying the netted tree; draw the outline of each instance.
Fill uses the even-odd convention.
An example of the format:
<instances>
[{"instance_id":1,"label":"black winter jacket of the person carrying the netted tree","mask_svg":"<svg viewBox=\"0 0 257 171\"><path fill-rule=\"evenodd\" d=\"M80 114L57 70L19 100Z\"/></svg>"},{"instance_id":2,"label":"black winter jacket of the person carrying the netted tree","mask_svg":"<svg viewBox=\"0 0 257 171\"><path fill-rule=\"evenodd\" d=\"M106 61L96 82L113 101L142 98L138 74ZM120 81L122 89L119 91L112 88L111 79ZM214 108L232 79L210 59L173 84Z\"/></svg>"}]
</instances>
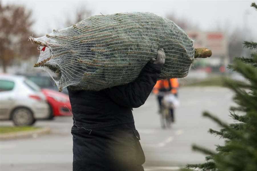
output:
<instances>
[{"instance_id":1,"label":"black winter jacket of the person carrying the netted tree","mask_svg":"<svg viewBox=\"0 0 257 171\"><path fill-rule=\"evenodd\" d=\"M131 83L101 91L72 91L73 171L143 170L145 156L132 108L143 105L162 65L147 63Z\"/></svg>"}]
</instances>

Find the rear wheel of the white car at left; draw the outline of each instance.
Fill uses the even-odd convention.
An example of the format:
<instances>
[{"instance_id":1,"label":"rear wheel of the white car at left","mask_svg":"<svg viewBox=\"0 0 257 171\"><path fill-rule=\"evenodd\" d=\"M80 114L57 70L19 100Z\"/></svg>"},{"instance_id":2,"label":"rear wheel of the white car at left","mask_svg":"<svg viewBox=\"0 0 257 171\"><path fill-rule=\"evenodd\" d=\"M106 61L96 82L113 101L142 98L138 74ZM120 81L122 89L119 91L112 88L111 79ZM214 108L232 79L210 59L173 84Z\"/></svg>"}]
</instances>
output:
<instances>
[{"instance_id":1,"label":"rear wheel of the white car at left","mask_svg":"<svg viewBox=\"0 0 257 171\"><path fill-rule=\"evenodd\" d=\"M33 125L36 121L31 110L25 107L15 109L12 113L12 120L17 126Z\"/></svg>"}]
</instances>

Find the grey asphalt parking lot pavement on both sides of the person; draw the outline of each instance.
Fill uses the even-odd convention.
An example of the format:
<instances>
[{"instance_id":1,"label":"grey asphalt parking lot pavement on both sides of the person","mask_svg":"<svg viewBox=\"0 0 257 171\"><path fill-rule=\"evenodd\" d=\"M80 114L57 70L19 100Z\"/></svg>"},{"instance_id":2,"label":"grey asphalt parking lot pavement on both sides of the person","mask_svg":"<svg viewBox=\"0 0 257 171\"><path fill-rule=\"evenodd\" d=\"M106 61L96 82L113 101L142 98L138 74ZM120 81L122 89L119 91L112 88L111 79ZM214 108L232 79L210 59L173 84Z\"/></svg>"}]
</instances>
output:
<instances>
[{"instance_id":1,"label":"grey asphalt parking lot pavement on both sides of the person","mask_svg":"<svg viewBox=\"0 0 257 171\"><path fill-rule=\"evenodd\" d=\"M228 109L233 93L220 87L188 87L179 90L181 105L175 110L171 129L161 129L157 101L150 95L146 103L133 110L135 125L145 152L145 171L177 170L187 163L204 161L205 155L191 150L192 144L214 149L223 141L207 133L219 127L202 112L208 110L227 122L232 122ZM1 125L11 125L10 121ZM70 171L72 170L72 117L53 121L38 121L35 126L50 127L50 135L1 141L1 171Z\"/></svg>"}]
</instances>

